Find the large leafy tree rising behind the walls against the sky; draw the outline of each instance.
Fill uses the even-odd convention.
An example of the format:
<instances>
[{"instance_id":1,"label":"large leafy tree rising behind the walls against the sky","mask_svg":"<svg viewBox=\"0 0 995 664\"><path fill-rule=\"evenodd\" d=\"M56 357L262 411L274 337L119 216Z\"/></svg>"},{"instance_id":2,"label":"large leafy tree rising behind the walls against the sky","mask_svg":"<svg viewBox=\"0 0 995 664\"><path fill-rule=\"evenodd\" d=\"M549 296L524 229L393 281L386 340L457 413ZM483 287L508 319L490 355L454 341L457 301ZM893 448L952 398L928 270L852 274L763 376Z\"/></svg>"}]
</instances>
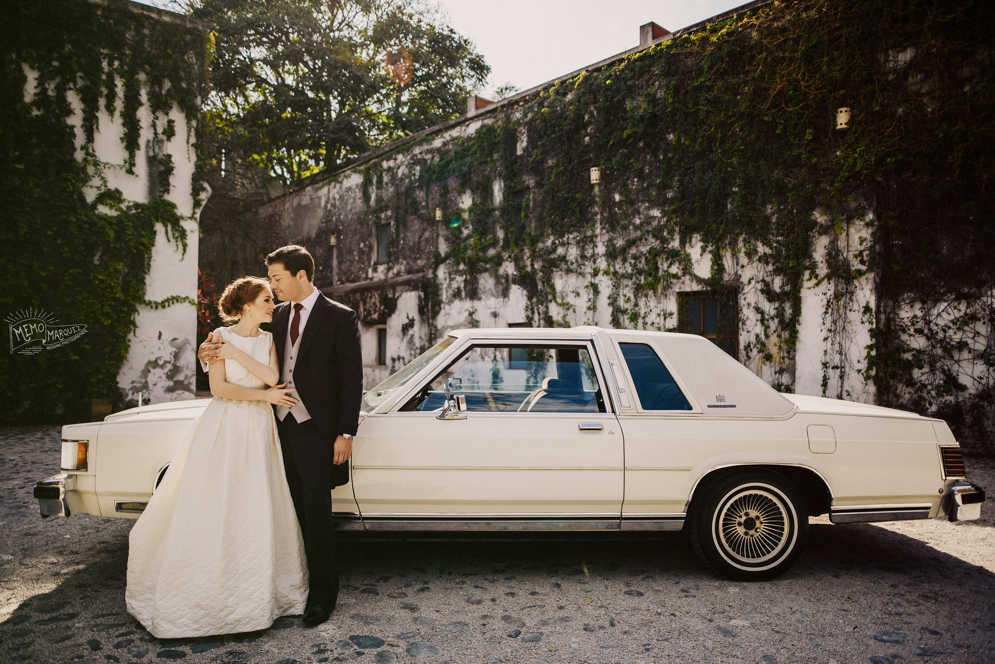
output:
<instances>
[{"instance_id":1,"label":"large leafy tree rising behind the walls against the sky","mask_svg":"<svg viewBox=\"0 0 995 664\"><path fill-rule=\"evenodd\" d=\"M463 112L490 73L418 0L191 0L217 26L205 105L220 165L290 183ZM229 157L230 158L230 157Z\"/></svg>"}]
</instances>

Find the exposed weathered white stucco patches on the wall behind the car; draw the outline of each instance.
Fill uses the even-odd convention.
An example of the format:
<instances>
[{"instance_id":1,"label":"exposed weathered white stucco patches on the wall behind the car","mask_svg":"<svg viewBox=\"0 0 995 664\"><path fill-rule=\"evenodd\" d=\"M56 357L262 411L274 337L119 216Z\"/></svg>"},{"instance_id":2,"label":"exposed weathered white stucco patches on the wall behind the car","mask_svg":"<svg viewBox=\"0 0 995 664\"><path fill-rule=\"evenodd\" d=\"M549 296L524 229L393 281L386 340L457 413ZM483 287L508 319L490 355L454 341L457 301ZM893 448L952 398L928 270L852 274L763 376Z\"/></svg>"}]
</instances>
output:
<instances>
[{"instance_id":1,"label":"exposed weathered white stucco patches on the wall behind the car","mask_svg":"<svg viewBox=\"0 0 995 664\"><path fill-rule=\"evenodd\" d=\"M432 134L406 151L387 155L372 163L384 181L373 185L367 173L366 194L389 197L397 187L405 186L420 156L446 143L454 136L466 136L487 117L466 118ZM505 263L496 274L481 275L472 297L467 294L463 275L453 273L450 262L435 265L436 258L449 249L446 222L437 222L425 210L434 205L419 194L414 205L420 210L404 219L394 219L387 210L380 221L391 225L391 257L388 263L376 262L376 221L370 214L373 200L364 199L363 164L346 169L323 181L306 184L259 209L260 223L265 223L280 238L281 244L301 244L314 255L315 285L327 296L356 309L362 327L364 383L367 388L386 378L391 372L413 359L446 332L459 328L496 327L522 324L527 321L528 301L525 290L515 285L514 266ZM370 194L370 189L377 191ZM499 177L494 180L497 203L502 195ZM469 193L459 194L457 206L464 210L472 204ZM644 209L642 219L634 224L652 221L659 211L652 206ZM818 211L813 211L818 214ZM497 231L500 232L499 230ZM331 245L331 236L336 245ZM841 235L820 237L814 256L819 270L824 271L825 254L830 247L856 256L861 236L869 233L861 224L846 226ZM571 274L553 275L558 294L550 315L557 325L598 325L611 327L612 310L609 296L616 288L611 280L595 267L605 267L605 247L611 240L606 232L596 233L595 246L588 247L589 265L581 266L576 247L565 245L568 260L574 265ZM712 256L695 238L685 247L693 260L697 277L707 278ZM576 254L576 256L574 255ZM854 292L847 294L842 304L840 294L826 284L806 283L802 294L800 339L794 360L787 359L784 339L765 335L757 311L769 307L758 284L762 282L762 267L749 262L742 253L722 256L725 273L738 282L738 359L763 379L781 388L798 393L871 402L873 385L865 383L863 372L866 345L873 318L865 316L868 307L874 309L872 275L858 280ZM584 269L584 268L587 269ZM591 286L597 285L599 295L592 302ZM623 285L624 290L624 285ZM653 296L641 296L639 320L626 327L667 330L677 325L678 298L682 292L699 291L695 280L684 278L666 291ZM628 297L627 293L617 294ZM430 306L434 303L434 308ZM429 317L428 312L437 314ZM377 363L378 327L387 329L387 361ZM827 332L836 326L837 332Z\"/></svg>"}]
</instances>

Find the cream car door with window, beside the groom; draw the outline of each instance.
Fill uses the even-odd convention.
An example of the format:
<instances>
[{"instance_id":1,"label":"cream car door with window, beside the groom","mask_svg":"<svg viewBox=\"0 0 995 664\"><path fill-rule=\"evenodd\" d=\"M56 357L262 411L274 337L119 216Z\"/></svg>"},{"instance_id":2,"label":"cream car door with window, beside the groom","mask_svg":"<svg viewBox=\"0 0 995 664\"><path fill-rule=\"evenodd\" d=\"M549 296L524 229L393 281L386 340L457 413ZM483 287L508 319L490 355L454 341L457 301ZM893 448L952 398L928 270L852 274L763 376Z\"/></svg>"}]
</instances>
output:
<instances>
[{"instance_id":1,"label":"cream car door with window, beside the groom","mask_svg":"<svg viewBox=\"0 0 995 664\"><path fill-rule=\"evenodd\" d=\"M366 417L353 491L370 530L617 529L623 444L591 341L473 340ZM439 419L446 388L459 419Z\"/></svg>"}]
</instances>

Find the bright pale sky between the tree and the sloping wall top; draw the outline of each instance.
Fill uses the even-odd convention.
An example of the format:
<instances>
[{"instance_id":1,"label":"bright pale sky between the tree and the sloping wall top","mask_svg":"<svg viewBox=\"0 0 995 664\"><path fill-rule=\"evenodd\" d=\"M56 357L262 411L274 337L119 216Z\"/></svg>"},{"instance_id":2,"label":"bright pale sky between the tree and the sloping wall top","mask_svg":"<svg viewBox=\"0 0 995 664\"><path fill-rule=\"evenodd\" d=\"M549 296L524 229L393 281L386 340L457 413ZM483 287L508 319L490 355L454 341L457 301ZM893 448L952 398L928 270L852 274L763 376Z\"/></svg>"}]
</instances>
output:
<instances>
[{"instance_id":1,"label":"bright pale sky between the tree and the sloping wall top","mask_svg":"<svg viewBox=\"0 0 995 664\"><path fill-rule=\"evenodd\" d=\"M182 0L137 0L176 10ZM748 0L428 0L491 66L479 92L504 84L528 90L639 45L639 26L671 32ZM491 95L492 97L488 97Z\"/></svg>"}]
</instances>

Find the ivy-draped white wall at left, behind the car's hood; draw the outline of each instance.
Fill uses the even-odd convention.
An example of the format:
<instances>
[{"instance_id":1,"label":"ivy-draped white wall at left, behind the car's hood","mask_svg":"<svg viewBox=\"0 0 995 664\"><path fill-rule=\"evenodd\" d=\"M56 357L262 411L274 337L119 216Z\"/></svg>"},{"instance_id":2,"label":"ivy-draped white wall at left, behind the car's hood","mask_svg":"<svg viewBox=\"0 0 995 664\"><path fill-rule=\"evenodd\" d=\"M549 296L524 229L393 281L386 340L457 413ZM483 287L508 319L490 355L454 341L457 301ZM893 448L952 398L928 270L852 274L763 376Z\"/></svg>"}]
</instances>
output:
<instances>
[{"instance_id":1,"label":"ivy-draped white wall at left, behind the car's hood","mask_svg":"<svg viewBox=\"0 0 995 664\"><path fill-rule=\"evenodd\" d=\"M0 421L192 398L209 26L125 0L14 0L0 44ZM18 346L30 315L50 338ZM86 332L60 345L59 326Z\"/></svg>"}]
</instances>

